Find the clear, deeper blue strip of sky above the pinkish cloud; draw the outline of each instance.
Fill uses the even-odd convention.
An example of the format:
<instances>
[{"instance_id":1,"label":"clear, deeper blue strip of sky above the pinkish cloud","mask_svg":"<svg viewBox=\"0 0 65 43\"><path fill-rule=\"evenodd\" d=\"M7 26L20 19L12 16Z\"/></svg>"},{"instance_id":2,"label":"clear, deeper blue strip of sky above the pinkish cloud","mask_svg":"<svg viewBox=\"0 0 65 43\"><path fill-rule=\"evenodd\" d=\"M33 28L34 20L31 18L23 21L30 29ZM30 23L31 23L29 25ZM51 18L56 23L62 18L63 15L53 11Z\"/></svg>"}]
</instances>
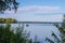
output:
<instances>
[{"instance_id":1,"label":"clear, deeper blue strip of sky above the pinkish cloud","mask_svg":"<svg viewBox=\"0 0 65 43\"><path fill-rule=\"evenodd\" d=\"M64 6L65 0L21 0L22 5L58 5Z\"/></svg>"}]
</instances>

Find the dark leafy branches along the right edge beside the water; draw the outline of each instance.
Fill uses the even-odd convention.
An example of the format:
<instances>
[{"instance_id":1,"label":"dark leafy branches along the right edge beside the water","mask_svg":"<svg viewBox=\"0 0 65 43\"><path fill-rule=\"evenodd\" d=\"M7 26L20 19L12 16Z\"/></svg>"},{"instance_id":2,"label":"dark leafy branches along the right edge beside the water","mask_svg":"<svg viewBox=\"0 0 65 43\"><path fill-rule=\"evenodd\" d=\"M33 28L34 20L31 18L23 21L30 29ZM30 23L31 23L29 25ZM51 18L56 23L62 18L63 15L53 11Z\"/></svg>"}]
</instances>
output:
<instances>
[{"instance_id":1,"label":"dark leafy branches along the right edge beside the water","mask_svg":"<svg viewBox=\"0 0 65 43\"><path fill-rule=\"evenodd\" d=\"M60 37L61 40L57 38L57 35L52 32L52 37L55 39L56 43L65 43L65 15L64 15L64 19L62 25L60 26L58 24L54 24L54 26L58 29L60 31ZM48 38L49 39L49 38ZM51 43L52 40L50 40L49 42Z\"/></svg>"}]
</instances>

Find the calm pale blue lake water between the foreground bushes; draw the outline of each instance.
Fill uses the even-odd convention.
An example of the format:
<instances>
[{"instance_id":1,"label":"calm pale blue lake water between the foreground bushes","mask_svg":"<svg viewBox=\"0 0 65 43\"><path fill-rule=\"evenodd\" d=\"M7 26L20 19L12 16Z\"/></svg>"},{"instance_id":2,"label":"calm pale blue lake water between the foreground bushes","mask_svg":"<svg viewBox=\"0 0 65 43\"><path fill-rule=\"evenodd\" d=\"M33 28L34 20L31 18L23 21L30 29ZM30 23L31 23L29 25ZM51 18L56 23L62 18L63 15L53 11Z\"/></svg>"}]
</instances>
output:
<instances>
[{"instance_id":1,"label":"calm pale blue lake water between the foreground bushes","mask_svg":"<svg viewBox=\"0 0 65 43\"><path fill-rule=\"evenodd\" d=\"M46 38L50 38L51 40L53 40L52 38L52 31L58 35L60 32L57 30L57 28L55 26L53 26L52 24L28 24L28 27L25 27L25 29L27 31L30 31L30 38L35 38L35 35L38 35L38 40L40 40L41 42L46 43L44 40ZM25 25L26 26L26 25Z\"/></svg>"}]
</instances>

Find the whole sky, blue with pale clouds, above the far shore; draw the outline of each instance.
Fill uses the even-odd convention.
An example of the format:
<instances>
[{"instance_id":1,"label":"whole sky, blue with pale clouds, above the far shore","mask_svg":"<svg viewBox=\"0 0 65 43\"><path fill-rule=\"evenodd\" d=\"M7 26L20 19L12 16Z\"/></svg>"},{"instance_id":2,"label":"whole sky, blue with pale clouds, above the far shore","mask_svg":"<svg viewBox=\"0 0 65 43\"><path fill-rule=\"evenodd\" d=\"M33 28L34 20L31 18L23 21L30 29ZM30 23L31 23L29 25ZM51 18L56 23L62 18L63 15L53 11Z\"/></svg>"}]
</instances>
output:
<instances>
[{"instance_id":1,"label":"whole sky, blue with pale clouds, above the far shore","mask_svg":"<svg viewBox=\"0 0 65 43\"><path fill-rule=\"evenodd\" d=\"M65 0L17 0L17 12L5 11L1 17L13 17L21 22L61 22L65 14Z\"/></svg>"}]
</instances>

